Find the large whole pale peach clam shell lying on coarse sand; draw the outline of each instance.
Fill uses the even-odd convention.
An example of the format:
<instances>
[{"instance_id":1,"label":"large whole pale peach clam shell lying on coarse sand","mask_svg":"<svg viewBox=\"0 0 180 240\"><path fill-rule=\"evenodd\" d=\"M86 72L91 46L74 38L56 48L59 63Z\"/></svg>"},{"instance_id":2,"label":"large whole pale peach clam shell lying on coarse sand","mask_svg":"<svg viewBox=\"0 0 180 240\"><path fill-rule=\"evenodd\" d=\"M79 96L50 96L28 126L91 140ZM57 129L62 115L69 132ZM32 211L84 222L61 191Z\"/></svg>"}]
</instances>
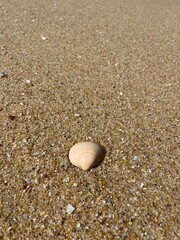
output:
<instances>
[{"instance_id":1,"label":"large whole pale peach clam shell lying on coarse sand","mask_svg":"<svg viewBox=\"0 0 180 240\"><path fill-rule=\"evenodd\" d=\"M76 167L90 170L103 161L106 155L105 148L93 142L80 142L72 146L69 151L69 160Z\"/></svg>"}]
</instances>

